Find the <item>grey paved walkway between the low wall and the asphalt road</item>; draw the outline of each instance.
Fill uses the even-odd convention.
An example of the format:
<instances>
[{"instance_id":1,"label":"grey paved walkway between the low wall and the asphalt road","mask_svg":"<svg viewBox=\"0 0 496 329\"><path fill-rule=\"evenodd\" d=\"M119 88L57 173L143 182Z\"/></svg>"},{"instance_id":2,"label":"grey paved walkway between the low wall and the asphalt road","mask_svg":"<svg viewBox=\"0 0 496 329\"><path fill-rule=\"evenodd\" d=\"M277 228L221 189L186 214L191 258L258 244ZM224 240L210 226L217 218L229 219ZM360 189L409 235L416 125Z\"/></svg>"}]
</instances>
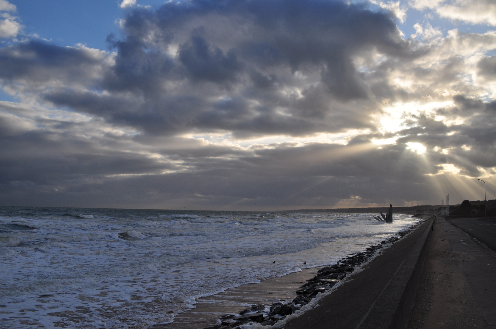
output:
<instances>
[{"instance_id":1,"label":"grey paved walkway between the low wall and the asphalt road","mask_svg":"<svg viewBox=\"0 0 496 329\"><path fill-rule=\"evenodd\" d=\"M466 231L442 218L434 223L408 329L496 329L496 253L478 242L496 240L487 234L496 225L455 222Z\"/></svg>"}]
</instances>

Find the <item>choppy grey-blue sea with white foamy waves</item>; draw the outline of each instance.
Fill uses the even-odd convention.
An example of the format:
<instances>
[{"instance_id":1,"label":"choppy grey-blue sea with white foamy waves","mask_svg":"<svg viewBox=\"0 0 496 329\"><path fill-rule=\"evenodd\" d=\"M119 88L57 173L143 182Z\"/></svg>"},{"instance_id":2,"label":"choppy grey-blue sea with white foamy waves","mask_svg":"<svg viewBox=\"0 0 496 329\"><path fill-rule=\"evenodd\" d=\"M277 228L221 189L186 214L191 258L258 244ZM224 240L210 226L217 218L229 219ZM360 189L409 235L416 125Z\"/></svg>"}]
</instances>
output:
<instances>
[{"instance_id":1,"label":"choppy grey-blue sea with white foamy waves","mask_svg":"<svg viewBox=\"0 0 496 329\"><path fill-rule=\"evenodd\" d=\"M0 328L148 328L198 298L336 263L395 214L0 207Z\"/></svg>"}]
</instances>

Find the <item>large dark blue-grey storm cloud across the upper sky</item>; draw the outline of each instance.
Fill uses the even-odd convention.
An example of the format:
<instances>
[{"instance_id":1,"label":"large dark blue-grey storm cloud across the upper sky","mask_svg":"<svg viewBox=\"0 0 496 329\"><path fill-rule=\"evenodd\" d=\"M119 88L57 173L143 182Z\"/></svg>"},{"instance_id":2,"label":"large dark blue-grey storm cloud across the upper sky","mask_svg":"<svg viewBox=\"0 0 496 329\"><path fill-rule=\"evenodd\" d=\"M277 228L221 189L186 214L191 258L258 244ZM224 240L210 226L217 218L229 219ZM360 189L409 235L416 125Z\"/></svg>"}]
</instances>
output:
<instances>
[{"instance_id":1,"label":"large dark blue-grey storm cloud across the upper sky","mask_svg":"<svg viewBox=\"0 0 496 329\"><path fill-rule=\"evenodd\" d=\"M374 100L354 56L411 55L389 14L323 0L171 1L132 10L108 44L115 57L6 47L1 78L49 82L42 100L153 134L308 135L371 127ZM364 104L361 118L350 101Z\"/></svg>"}]
</instances>

